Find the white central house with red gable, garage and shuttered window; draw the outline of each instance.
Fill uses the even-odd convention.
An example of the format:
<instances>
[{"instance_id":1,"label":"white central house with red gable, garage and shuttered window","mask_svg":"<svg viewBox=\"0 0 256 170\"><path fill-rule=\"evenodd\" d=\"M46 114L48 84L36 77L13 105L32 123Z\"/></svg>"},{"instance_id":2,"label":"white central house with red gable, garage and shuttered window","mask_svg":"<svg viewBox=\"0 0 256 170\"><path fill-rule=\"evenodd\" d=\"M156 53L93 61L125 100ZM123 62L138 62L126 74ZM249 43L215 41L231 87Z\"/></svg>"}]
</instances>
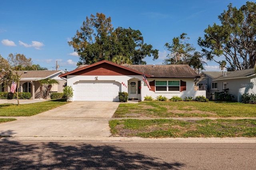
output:
<instances>
[{"instance_id":1,"label":"white central house with red gable, garage and shuttered window","mask_svg":"<svg viewBox=\"0 0 256 170\"><path fill-rule=\"evenodd\" d=\"M145 75L151 90L143 81ZM194 79L200 76L188 65L130 65L100 61L61 74L72 86L71 101L118 101L118 92L127 92L129 99L144 100L146 95L156 98L206 95L194 90Z\"/></svg>"}]
</instances>

